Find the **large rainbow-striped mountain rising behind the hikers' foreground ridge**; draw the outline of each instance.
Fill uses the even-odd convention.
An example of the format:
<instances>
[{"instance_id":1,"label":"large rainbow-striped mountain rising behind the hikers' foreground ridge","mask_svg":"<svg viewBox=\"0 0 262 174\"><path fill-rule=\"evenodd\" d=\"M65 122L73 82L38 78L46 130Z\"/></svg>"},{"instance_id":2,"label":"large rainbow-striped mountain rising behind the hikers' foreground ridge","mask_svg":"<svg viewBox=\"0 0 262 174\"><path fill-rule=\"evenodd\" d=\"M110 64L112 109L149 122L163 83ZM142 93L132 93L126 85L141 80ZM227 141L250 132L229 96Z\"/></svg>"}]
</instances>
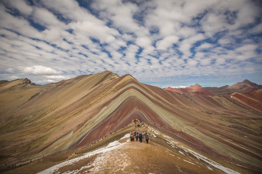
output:
<instances>
[{"instance_id":1,"label":"large rainbow-striped mountain rising behind the hikers' foreground ridge","mask_svg":"<svg viewBox=\"0 0 262 174\"><path fill-rule=\"evenodd\" d=\"M1 164L85 148L141 118L192 149L261 166L261 112L230 97L179 94L110 71L42 86L20 81L0 86Z\"/></svg>"}]
</instances>

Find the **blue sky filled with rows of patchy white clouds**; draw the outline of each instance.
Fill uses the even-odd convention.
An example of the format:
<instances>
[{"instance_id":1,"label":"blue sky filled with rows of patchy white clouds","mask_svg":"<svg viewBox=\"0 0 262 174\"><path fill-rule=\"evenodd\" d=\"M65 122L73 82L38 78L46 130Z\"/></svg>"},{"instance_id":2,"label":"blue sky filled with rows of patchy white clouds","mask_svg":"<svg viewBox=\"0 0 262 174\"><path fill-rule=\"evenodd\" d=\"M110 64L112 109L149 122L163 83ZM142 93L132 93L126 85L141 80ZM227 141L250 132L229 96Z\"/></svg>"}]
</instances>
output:
<instances>
[{"instance_id":1,"label":"blue sky filled with rows of patchy white clouds","mask_svg":"<svg viewBox=\"0 0 262 174\"><path fill-rule=\"evenodd\" d=\"M158 87L262 84L259 0L2 0L0 79L131 74Z\"/></svg>"}]
</instances>

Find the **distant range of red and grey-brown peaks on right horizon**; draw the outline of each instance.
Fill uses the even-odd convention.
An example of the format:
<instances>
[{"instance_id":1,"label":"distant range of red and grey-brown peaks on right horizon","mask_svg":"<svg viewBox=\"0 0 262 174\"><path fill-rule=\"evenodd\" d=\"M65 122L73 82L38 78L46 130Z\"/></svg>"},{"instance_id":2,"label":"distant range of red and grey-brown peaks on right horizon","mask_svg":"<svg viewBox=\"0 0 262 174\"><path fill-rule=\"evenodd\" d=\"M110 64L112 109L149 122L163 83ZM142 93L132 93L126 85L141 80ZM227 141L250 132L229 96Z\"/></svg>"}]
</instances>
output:
<instances>
[{"instance_id":1,"label":"distant range of red and grey-brown peaks on right horizon","mask_svg":"<svg viewBox=\"0 0 262 174\"><path fill-rule=\"evenodd\" d=\"M262 85L252 83L247 79L243 80L243 82L238 82L231 86L225 85L222 87L201 87L199 84L195 84L186 88L172 88L172 87L165 88L165 90L175 91L180 94L191 93L191 94L207 95L207 96L231 95L234 92L247 93L259 89L262 89Z\"/></svg>"}]
</instances>

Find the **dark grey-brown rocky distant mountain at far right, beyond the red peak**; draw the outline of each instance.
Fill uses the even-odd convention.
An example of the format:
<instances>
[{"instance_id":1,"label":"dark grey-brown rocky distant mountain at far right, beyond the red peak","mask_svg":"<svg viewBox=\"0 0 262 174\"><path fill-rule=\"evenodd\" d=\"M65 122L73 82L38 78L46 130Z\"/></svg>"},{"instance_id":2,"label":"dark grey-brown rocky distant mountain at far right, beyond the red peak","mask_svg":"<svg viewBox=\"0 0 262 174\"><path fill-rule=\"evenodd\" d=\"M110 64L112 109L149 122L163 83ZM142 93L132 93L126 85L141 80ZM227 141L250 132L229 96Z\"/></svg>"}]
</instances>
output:
<instances>
[{"instance_id":1,"label":"dark grey-brown rocky distant mountain at far right, beyond the red peak","mask_svg":"<svg viewBox=\"0 0 262 174\"><path fill-rule=\"evenodd\" d=\"M252 83L249 80L243 80L243 82L235 83L231 86L222 86L222 87L204 87L205 90L215 94L215 95L230 95L234 92L246 93L256 91L261 89L262 85Z\"/></svg>"}]
</instances>

